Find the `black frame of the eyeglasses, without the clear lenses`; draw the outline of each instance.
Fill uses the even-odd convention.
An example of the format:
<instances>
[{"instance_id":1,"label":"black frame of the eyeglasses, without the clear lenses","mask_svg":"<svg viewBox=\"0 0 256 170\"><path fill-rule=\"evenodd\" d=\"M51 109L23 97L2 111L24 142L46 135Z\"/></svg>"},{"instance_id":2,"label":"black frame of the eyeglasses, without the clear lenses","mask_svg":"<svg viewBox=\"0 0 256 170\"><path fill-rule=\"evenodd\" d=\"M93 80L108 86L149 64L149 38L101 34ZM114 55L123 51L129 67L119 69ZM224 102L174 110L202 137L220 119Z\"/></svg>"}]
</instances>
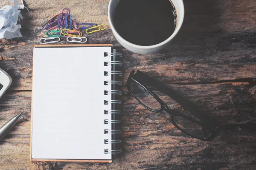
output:
<instances>
[{"instance_id":1,"label":"black frame of the eyeglasses, without the clear lenses","mask_svg":"<svg viewBox=\"0 0 256 170\"><path fill-rule=\"evenodd\" d=\"M137 83L138 85L143 87L146 91L148 91L157 100L157 102L160 103L161 108L154 110L154 109L146 106L143 102L140 101L140 99L137 99L137 97L131 91L132 82ZM154 88L153 89L154 91L160 91L163 94L166 94L167 96L171 97L173 100L175 100L177 103L179 103L184 109L186 109L187 111L192 113L194 116L196 116L200 121L169 108L167 106L167 104L165 102L163 102L163 100L160 99L156 94L154 94L154 92L151 90L151 88L149 88L147 86L151 86ZM148 75L144 74L143 72L141 72L139 70L137 70L136 73L134 70L131 71L131 73L128 77L127 83L126 83L126 87L127 87L128 91L132 94L132 96L148 110L153 111L155 113L159 113L162 111L166 111L167 113L169 113L170 117L171 117L172 124L177 129L179 129L183 133L185 133L193 138L200 139L203 141L210 141L210 140L214 139L221 132L219 123L216 120L210 118L209 116L202 114L201 111L199 111L199 108L194 103L190 102L188 99L184 98L183 96L180 96L179 94L172 91L171 89L166 88L164 85L155 81L154 79L152 79L151 77L149 77ZM177 125L177 123L175 122L175 116L181 116L185 119L188 119L188 120L200 125L202 128L206 128L207 130L209 130L211 132L211 134L205 138L199 138L197 136L194 136L194 135L186 132L185 130L183 130L182 128L180 128Z\"/></svg>"}]
</instances>

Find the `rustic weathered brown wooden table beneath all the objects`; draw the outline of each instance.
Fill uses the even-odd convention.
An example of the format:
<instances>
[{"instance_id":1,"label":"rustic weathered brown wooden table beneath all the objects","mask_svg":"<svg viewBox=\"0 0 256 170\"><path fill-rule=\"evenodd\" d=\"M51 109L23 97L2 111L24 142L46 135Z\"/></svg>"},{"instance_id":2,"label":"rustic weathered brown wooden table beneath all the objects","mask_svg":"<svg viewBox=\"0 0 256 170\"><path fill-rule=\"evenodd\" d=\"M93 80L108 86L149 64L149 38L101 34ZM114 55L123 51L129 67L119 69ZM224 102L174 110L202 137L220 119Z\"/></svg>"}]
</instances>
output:
<instances>
[{"instance_id":1,"label":"rustic weathered brown wooden table beneath all the objects","mask_svg":"<svg viewBox=\"0 0 256 170\"><path fill-rule=\"evenodd\" d=\"M86 35L89 43L112 43L124 53L123 91L129 73L139 69L194 102L224 124L256 123L256 1L184 0L185 20L169 47L139 55L123 48L108 24L108 0L25 0L23 37L0 40L0 67L13 79L0 101L0 125L20 111L20 122L0 142L0 170L256 168L256 132L238 128L202 142L186 138L167 113L152 113L131 96L123 97L123 153L111 164L30 162L30 107L33 45L45 37L41 26L69 8L77 22L105 23ZM7 4L0 2L0 6ZM159 24L159 29L162 25ZM67 43L65 40L61 43ZM51 62L50 58L45 59ZM70 60L72 60L70 56ZM173 104L173 108L181 109Z\"/></svg>"}]
</instances>

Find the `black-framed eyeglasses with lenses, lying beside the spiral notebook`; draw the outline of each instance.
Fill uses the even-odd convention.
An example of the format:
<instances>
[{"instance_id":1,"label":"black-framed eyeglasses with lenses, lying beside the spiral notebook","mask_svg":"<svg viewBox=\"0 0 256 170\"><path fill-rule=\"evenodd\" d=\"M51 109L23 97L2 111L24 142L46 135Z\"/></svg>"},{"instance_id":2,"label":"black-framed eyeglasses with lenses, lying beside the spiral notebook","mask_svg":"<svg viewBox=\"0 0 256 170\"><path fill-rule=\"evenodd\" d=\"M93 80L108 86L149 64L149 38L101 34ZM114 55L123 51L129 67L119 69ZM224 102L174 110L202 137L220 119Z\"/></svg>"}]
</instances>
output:
<instances>
[{"instance_id":1,"label":"black-framed eyeglasses with lenses, lying beside the spiral notebook","mask_svg":"<svg viewBox=\"0 0 256 170\"><path fill-rule=\"evenodd\" d=\"M148 77L143 72L138 70L136 74L134 73L134 70L131 71L127 81L127 88L134 98L145 108L153 112L166 111L171 116L172 124L191 137L209 141L220 133L221 128L218 126L219 123L201 113L195 104L169 88L166 88L159 82L154 81L154 79ZM170 109L160 99L160 94L162 93L171 97L186 111L189 111L191 113L190 116Z\"/></svg>"}]
</instances>

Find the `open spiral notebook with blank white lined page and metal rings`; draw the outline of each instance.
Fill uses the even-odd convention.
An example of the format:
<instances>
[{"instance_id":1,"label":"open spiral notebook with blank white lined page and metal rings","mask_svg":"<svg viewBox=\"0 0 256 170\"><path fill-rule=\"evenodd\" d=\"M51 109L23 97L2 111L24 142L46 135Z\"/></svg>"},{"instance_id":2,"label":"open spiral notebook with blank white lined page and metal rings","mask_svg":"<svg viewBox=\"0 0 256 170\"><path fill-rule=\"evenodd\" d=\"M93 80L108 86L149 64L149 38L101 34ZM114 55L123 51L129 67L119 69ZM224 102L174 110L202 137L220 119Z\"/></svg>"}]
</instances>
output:
<instances>
[{"instance_id":1,"label":"open spiral notebook with blank white lined page and metal rings","mask_svg":"<svg viewBox=\"0 0 256 170\"><path fill-rule=\"evenodd\" d=\"M121 153L118 57L110 44L35 45L32 161L112 162Z\"/></svg>"}]
</instances>

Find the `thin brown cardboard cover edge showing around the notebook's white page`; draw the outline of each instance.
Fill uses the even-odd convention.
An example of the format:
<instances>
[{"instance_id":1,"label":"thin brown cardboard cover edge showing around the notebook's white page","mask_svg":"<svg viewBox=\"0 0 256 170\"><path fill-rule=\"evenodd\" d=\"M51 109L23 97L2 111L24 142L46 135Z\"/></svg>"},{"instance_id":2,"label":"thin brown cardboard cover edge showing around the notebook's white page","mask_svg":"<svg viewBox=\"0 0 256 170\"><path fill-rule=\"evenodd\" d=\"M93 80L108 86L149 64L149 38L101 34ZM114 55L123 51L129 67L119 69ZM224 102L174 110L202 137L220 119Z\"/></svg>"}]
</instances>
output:
<instances>
[{"instance_id":1,"label":"thin brown cardboard cover edge showing around the notebook's white page","mask_svg":"<svg viewBox=\"0 0 256 170\"><path fill-rule=\"evenodd\" d=\"M92 47L92 46L112 46L112 44L56 44L56 45L34 45L34 48L47 48L47 47ZM33 72L33 71L32 71ZM32 86L33 87L33 86ZM32 89L33 90L33 89ZM32 96L33 97L33 96ZM31 97L31 101L32 101ZM31 102L31 124L32 124L32 106ZM95 163L111 163L112 160L91 160L91 159L32 159L32 125L30 129L30 160L31 161L58 161L58 162L95 162Z\"/></svg>"}]
</instances>

